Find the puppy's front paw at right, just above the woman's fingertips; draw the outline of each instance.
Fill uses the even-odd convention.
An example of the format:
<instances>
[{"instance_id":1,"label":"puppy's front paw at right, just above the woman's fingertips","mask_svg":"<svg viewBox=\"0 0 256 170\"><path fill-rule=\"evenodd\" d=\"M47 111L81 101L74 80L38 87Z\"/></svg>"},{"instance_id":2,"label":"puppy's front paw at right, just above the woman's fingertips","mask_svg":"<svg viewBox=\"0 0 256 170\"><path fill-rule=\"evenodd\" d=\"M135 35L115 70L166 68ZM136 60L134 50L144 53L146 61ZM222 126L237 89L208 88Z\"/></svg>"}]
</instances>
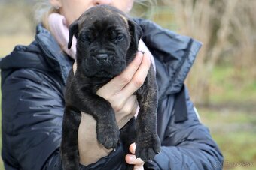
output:
<instances>
[{"instance_id":1,"label":"puppy's front paw at right, just above the woman's fingertips","mask_svg":"<svg viewBox=\"0 0 256 170\"><path fill-rule=\"evenodd\" d=\"M152 160L156 154L160 153L160 139L157 134L143 134L136 139L136 157L142 160Z\"/></svg>"}]
</instances>

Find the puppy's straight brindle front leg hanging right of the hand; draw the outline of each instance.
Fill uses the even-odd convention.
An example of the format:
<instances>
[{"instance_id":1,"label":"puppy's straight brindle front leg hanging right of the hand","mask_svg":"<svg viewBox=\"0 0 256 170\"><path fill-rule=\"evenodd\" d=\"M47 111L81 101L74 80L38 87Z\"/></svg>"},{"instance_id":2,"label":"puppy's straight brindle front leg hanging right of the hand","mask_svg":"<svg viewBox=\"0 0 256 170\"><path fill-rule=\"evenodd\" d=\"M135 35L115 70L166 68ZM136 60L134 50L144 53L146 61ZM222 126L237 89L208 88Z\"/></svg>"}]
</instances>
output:
<instances>
[{"instance_id":1,"label":"puppy's straight brindle front leg hanging right of the hand","mask_svg":"<svg viewBox=\"0 0 256 170\"><path fill-rule=\"evenodd\" d=\"M153 67L148 72L144 85L137 91L139 114L136 120L136 157L151 160L160 152L157 136L157 84Z\"/></svg>"}]
</instances>

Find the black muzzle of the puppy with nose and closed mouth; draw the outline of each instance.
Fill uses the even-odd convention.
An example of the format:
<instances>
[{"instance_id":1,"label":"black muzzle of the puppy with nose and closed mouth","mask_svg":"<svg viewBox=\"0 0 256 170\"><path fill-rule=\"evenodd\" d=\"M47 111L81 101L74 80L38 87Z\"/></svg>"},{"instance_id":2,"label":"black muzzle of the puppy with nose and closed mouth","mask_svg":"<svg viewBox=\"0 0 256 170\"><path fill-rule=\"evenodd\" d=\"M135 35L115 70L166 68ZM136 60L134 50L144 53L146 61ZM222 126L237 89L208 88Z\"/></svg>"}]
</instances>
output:
<instances>
[{"instance_id":1,"label":"black muzzle of the puppy with nose and closed mouth","mask_svg":"<svg viewBox=\"0 0 256 170\"><path fill-rule=\"evenodd\" d=\"M83 67L87 77L112 78L124 70L126 61L114 53L101 52L85 58Z\"/></svg>"}]
</instances>

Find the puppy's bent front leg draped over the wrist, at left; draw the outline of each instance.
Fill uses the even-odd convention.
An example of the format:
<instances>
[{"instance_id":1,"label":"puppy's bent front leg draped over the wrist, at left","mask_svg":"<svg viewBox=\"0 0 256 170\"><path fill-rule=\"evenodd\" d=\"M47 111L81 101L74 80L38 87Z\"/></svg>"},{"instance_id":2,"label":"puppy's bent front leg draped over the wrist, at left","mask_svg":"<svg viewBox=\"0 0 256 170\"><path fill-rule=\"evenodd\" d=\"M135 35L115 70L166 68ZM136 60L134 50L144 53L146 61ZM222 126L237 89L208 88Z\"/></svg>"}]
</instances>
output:
<instances>
[{"instance_id":1,"label":"puppy's bent front leg draped over the wrist, at left","mask_svg":"<svg viewBox=\"0 0 256 170\"><path fill-rule=\"evenodd\" d=\"M78 88L77 88L78 89ZM77 90L78 91L78 90ZM99 143L105 148L116 148L120 141L120 131L111 103L90 91L78 91L79 95L70 95L72 106L90 114L96 120L96 133ZM86 98L85 98L86 97Z\"/></svg>"}]
</instances>

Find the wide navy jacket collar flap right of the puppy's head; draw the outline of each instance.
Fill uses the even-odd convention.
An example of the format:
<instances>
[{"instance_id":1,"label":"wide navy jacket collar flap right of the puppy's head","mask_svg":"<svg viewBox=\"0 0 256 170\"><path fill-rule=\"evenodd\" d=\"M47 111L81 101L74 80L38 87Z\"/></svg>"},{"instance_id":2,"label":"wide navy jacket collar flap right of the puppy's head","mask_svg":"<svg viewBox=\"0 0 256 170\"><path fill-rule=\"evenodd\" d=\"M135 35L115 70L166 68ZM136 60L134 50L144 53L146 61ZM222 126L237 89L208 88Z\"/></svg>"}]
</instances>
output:
<instances>
[{"instance_id":1,"label":"wide navy jacket collar flap right of the puppy's head","mask_svg":"<svg viewBox=\"0 0 256 170\"><path fill-rule=\"evenodd\" d=\"M135 22L141 26L142 40L154 55L160 98L181 91L202 43L145 19L135 19Z\"/></svg>"}]
</instances>

